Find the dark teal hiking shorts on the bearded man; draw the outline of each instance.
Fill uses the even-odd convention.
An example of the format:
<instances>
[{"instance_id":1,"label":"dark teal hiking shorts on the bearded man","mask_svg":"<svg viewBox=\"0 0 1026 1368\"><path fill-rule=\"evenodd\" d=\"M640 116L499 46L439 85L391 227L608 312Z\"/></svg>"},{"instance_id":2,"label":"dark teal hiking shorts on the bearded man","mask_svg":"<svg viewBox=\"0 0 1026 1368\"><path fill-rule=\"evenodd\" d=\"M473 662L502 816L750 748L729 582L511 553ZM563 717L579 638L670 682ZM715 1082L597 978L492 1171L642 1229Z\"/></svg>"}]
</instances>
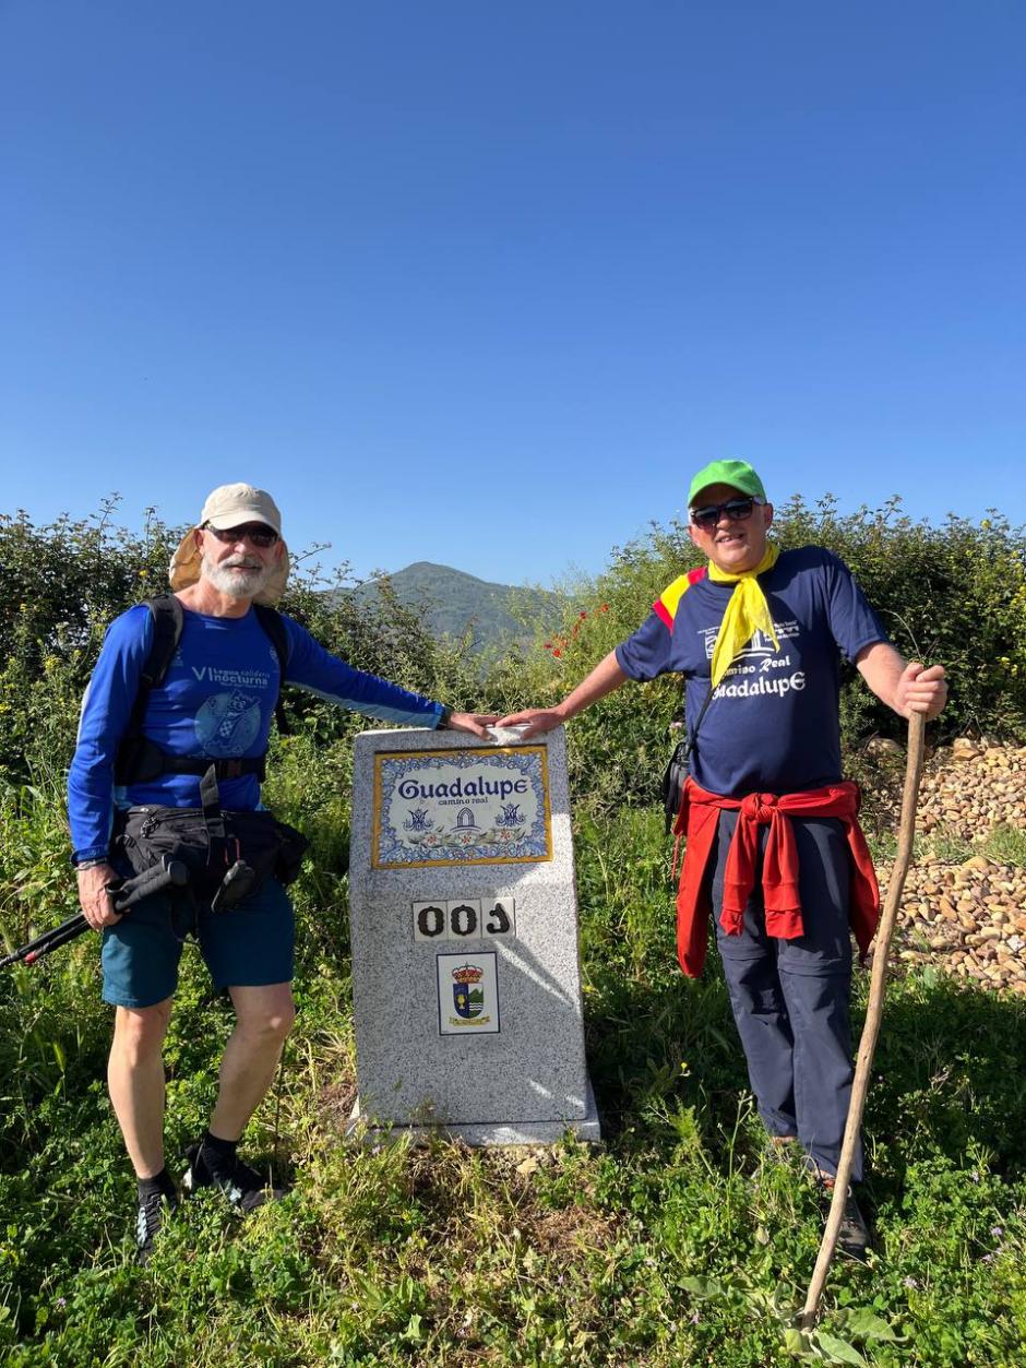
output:
<instances>
[{"instance_id":1,"label":"dark teal hiking shorts on the bearded man","mask_svg":"<svg viewBox=\"0 0 1026 1368\"><path fill-rule=\"evenodd\" d=\"M196 917L182 897L144 897L103 933L104 1001L114 1007L153 1007L178 986L178 963L192 933L215 989L263 988L293 978L295 917L289 895L267 882L237 907L212 912L200 903Z\"/></svg>"}]
</instances>

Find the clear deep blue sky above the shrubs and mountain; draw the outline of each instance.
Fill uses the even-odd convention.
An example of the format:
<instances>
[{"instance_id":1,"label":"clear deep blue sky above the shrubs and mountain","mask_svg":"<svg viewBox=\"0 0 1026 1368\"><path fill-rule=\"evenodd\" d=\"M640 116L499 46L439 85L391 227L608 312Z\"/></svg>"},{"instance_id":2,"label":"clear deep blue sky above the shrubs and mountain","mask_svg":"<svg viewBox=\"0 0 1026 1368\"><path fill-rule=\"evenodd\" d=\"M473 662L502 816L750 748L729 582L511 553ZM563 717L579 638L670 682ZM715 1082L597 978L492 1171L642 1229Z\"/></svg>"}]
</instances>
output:
<instances>
[{"instance_id":1,"label":"clear deep blue sky above the shrubs and mountain","mask_svg":"<svg viewBox=\"0 0 1026 1368\"><path fill-rule=\"evenodd\" d=\"M1026 7L0 0L0 510L598 570L706 460L1026 520Z\"/></svg>"}]
</instances>

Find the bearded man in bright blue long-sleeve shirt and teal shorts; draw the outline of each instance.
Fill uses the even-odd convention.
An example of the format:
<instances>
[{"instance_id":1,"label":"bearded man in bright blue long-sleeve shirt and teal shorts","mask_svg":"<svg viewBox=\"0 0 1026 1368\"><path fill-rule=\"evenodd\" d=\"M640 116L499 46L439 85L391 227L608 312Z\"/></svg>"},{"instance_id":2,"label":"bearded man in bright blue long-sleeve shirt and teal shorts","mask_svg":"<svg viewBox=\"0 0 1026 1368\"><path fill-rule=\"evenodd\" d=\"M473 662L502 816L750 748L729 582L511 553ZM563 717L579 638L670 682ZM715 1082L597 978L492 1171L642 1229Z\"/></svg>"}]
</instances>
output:
<instances>
[{"instance_id":1,"label":"bearded man in bright blue long-sleeve shirt and teal shorts","mask_svg":"<svg viewBox=\"0 0 1026 1368\"><path fill-rule=\"evenodd\" d=\"M274 602L289 557L280 514L263 490L215 490L171 562L171 587L183 627L163 681L146 699L142 736L168 757L168 769L145 781L116 782L119 747L149 655L155 620L146 605L116 618L104 640L83 703L68 776L68 817L78 893L89 923L103 932L104 1000L115 1005L108 1083L129 1157L138 1178L138 1244L145 1259L175 1186L164 1164L163 1041L178 979L181 940L164 896L120 918L107 886L115 813L141 804L197 807L200 777L170 766L185 761L250 761L248 773L219 778L224 810L260 806L257 761L267 750L280 683L278 653L254 602ZM389 722L450 726L486 736L494 718L453 713L330 655L289 617L285 677L312 692ZM196 766L193 766L196 769ZM226 766L222 766L224 769ZM231 769L231 766L228 766ZM220 1067L218 1101L202 1140L189 1149L186 1186L220 1187L244 1211L267 1200L264 1181L235 1145L274 1078L294 1019L293 911L285 889L267 880L228 912L201 906L197 937L218 988L227 988L235 1030Z\"/></svg>"}]
</instances>

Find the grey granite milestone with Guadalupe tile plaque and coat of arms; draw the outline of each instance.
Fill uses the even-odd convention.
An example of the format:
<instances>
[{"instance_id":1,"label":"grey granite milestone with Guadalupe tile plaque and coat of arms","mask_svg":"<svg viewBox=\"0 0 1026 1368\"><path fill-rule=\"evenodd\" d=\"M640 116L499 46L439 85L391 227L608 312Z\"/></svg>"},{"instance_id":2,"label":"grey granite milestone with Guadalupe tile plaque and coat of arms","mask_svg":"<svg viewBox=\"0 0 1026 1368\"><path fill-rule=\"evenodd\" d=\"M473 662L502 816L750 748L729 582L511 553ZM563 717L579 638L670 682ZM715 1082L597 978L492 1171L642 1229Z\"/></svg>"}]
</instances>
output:
<instances>
[{"instance_id":1,"label":"grey granite milestone with Guadalupe tile plaque and coat of arms","mask_svg":"<svg viewBox=\"0 0 1026 1368\"><path fill-rule=\"evenodd\" d=\"M364 732L349 885L354 1116L472 1145L598 1140L562 729Z\"/></svg>"}]
</instances>

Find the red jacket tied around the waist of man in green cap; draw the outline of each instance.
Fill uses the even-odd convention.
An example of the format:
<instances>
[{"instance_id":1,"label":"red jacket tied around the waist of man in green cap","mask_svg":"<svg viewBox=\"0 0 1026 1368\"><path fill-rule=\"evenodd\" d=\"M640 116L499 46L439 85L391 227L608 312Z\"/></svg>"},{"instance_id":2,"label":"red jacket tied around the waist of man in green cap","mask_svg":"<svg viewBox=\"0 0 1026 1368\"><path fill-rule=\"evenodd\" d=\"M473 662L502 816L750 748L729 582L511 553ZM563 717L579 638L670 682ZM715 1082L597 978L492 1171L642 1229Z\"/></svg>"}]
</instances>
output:
<instances>
[{"instance_id":1,"label":"red jacket tied around the waist of man in green cap","mask_svg":"<svg viewBox=\"0 0 1026 1368\"><path fill-rule=\"evenodd\" d=\"M677 837L687 837L677 889L677 958L688 977L698 978L706 962L709 896L705 893L705 874L720 813L724 810L739 814L726 855L724 906L720 914L720 925L726 934L741 934L744 908L755 886L761 826L769 826L762 862L766 934L781 940L804 934L798 891L798 848L791 818L836 817L844 824L851 851L851 928L860 952L866 953L880 918L880 889L873 873L873 858L858 821L859 800L858 784L848 780L806 793L722 798L720 793L710 793L694 778L687 778L673 830Z\"/></svg>"}]
</instances>

